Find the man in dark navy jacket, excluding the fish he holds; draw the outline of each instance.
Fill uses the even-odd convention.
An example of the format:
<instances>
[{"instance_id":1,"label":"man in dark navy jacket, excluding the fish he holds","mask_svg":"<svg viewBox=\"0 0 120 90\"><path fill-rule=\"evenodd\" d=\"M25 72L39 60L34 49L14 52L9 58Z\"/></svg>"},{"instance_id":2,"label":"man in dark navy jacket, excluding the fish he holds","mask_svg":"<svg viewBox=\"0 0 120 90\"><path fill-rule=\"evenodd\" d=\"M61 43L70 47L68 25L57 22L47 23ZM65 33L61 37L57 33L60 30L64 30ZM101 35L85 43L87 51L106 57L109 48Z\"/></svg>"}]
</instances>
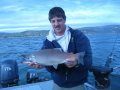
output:
<instances>
[{"instance_id":1,"label":"man in dark navy jacket, excluding the fish he holds","mask_svg":"<svg viewBox=\"0 0 120 90\"><path fill-rule=\"evenodd\" d=\"M49 21L53 30L49 31L42 49L61 48L63 52L78 54L69 56L67 63L46 66L54 81L53 90L84 90L88 69L92 65L92 53L88 38L80 31L73 30L66 23L66 15L61 7L49 11ZM79 53L84 52L83 59Z\"/></svg>"}]
</instances>

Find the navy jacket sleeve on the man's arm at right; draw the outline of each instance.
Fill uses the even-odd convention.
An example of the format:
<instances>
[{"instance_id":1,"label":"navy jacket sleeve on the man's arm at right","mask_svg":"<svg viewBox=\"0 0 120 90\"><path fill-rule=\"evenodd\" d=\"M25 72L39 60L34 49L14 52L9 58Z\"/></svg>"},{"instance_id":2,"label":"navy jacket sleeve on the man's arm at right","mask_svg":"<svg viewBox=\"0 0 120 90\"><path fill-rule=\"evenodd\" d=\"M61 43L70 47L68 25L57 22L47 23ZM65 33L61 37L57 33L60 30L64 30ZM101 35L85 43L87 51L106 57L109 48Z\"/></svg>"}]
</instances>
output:
<instances>
[{"instance_id":1,"label":"navy jacket sleeve on the man's arm at right","mask_svg":"<svg viewBox=\"0 0 120 90\"><path fill-rule=\"evenodd\" d=\"M82 32L78 32L76 35L76 49L78 53L85 52L83 59L79 56L78 63L90 68L92 66L91 45L89 39Z\"/></svg>"}]
</instances>

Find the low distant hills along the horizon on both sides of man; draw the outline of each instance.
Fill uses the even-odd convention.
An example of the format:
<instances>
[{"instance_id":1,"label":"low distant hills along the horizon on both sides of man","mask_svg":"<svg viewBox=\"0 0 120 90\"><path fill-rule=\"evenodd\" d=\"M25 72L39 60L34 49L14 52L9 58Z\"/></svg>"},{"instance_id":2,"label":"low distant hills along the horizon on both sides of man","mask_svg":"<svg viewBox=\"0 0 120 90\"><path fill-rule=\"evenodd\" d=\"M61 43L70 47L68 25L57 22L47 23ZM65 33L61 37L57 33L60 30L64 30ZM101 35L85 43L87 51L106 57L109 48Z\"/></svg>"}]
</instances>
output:
<instances>
[{"instance_id":1,"label":"low distant hills along the horizon on both sides of man","mask_svg":"<svg viewBox=\"0 0 120 90\"><path fill-rule=\"evenodd\" d=\"M106 25L106 26L96 26L96 27L83 27L78 28L83 33L87 34L95 34L95 33L120 33L120 25ZM31 37L31 36L46 36L48 30L31 30L31 31L24 31L19 33L0 33L0 38L8 38L8 37Z\"/></svg>"}]
</instances>

